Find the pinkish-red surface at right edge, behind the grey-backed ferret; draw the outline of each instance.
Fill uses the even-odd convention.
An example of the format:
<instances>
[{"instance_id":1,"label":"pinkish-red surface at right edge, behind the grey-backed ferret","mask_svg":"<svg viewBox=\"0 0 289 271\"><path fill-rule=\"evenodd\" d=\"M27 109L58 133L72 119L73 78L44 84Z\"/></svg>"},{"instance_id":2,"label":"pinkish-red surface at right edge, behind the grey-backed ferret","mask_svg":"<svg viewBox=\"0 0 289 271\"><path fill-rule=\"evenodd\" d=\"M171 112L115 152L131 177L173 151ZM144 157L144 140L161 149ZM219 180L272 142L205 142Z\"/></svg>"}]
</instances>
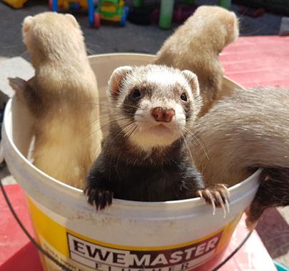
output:
<instances>
[{"instance_id":1,"label":"pinkish-red surface at right edge, behind the grey-backed ferret","mask_svg":"<svg viewBox=\"0 0 289 271\"><path fill-rule=\"evenodd\" d=\"M220 59L225 75L242 86L289 86L289 37L241 37Z\"/></svg>"}]
</instances>

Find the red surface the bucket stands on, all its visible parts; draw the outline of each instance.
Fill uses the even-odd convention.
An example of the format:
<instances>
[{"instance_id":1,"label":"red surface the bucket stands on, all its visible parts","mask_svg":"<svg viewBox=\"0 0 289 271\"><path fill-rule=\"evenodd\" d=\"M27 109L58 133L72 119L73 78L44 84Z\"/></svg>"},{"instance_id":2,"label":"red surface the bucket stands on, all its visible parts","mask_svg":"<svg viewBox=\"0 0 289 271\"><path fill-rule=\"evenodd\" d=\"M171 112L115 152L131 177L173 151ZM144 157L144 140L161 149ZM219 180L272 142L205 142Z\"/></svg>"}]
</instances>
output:
<instances>
[{"instance_id":1,"label":"red surface the bucket stands on, all its visible parts","mask_svg":"<svg viewBox=\"0 0 289 271\"><path fill-rule=\"evenodd\" d=\"M240 38L225 48L220 58L225 75L242 86L289 86L289 37ZM32 232L21 189L8 185L6 190L21 221ZM0 271L41 271L36 250L16 224L2 195L0 210ZM246 233L242 220L227 253L235 249ZM275 267L258 234L253 232L245 246L220 270L275 270Z\"/></svg>"}]
</instances>

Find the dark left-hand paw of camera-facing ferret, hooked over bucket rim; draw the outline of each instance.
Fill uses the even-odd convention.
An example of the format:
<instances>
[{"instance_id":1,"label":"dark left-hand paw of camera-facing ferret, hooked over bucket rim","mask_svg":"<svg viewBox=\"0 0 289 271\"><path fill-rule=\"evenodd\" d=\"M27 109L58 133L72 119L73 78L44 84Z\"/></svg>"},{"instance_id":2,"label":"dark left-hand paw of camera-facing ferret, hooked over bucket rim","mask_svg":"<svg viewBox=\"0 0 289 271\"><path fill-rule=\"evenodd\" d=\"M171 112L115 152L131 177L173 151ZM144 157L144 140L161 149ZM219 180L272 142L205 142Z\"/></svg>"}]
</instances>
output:
<instances>
[{"instance_id":1,"label":"dark left-hand paw of camera-facing ferret, hooked over bucket rim","mask_svg":"<svg viewBox=\"0 0 289 271\"><path fill-rule=\"evenodd\" d=\"M104 208L106 208L106 206L111 205L112 203L112 191L88 186L84 189L83 193L87 197L87 202L90 205L94 205L96 207L96 210L103 210Z\"/></svg>"}]
</instances>

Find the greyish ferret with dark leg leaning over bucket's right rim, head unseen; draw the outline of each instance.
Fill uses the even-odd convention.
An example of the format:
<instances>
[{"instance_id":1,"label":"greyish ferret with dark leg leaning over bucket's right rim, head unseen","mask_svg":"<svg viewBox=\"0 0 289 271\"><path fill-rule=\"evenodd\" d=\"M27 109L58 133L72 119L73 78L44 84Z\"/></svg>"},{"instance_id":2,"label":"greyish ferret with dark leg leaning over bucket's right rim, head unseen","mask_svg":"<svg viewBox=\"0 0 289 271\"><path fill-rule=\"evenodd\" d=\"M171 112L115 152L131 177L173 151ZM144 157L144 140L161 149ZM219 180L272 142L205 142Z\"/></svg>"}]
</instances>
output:
<instances>
[{"instance_id":1,"label":"greyish ferret with dark leg leaning over bucket's right rim, head unseen","mask_svg":"<svg viewBox=\"0 0 289 271\"><path fill-rule=\"evenodd\" d=\"M289 89L235 90L193 130L206 146L207 153L201 144L191 148L207 185L235 185L263 168L260 188L248 210L248 228L257 225L266 208L289 204Z\"/></svg>"}]
</instances>

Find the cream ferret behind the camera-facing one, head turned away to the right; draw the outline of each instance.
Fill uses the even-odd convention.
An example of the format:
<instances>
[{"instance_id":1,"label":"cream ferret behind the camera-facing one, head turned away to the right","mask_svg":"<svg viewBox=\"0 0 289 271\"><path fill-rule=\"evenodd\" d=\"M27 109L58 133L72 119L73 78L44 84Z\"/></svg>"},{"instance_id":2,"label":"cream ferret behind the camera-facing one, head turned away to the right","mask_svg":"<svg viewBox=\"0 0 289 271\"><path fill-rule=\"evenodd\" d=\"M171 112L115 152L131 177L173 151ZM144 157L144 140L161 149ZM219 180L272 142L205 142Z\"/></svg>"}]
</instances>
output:
<instances>
[{"instance_id":1,"label":"cream ferret behind the camera-facing one, head turned away to the right","mask_svg":"<svg viewBox=\"0 0 289 271\"><path fill-rule=\"evenodd\" d=\"M200 116L228 94L221 88L223 67L219 54L238 35L238 19L233 12L218 6L200 6L156 54L156 64L196 73L203 96Z\"/></svg>"}]
</instances>

